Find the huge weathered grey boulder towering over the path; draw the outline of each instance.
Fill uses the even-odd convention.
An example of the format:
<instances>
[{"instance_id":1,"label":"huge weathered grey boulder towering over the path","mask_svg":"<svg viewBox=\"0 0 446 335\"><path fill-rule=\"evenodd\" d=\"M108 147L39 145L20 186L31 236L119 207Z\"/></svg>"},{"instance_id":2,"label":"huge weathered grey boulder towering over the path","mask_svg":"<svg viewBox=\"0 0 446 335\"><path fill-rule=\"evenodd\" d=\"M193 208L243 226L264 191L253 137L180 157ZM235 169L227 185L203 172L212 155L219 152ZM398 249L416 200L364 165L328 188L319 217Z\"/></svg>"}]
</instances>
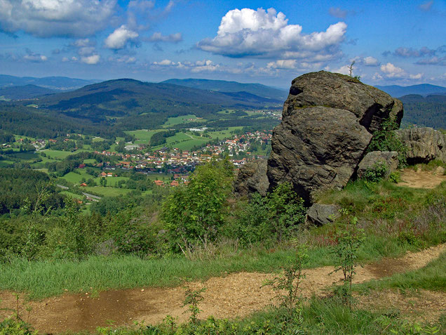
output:
<instances>
[{"instance_id":1,"label":"huge weathered grey boulder towering over the path","mask_svg":"<svg viewBox=\"0 0 446 335\"><path fill-rule=\"evenodd\" d=\"M308 204L320 190L344 187L389 116L399 124L400 101L356 79L324 71L296 78L273 131L270 188L289 181Z\"/></svg>"}]
</instances>

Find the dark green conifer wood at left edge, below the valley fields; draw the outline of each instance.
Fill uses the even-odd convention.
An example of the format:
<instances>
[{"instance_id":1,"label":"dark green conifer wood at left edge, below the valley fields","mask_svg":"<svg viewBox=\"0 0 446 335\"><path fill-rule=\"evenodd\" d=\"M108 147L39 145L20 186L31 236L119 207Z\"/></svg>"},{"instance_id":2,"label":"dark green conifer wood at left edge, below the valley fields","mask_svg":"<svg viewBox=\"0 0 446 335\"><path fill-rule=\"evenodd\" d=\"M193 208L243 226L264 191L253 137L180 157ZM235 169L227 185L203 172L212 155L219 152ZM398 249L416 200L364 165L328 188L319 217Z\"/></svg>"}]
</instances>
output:
<instances>
[{"instance_id":1,"label":"dark green conifer wood at left edge, below the valley fields","mask_svg":"<svg viewBox=\"0 0 446 335\"><path fill-rule=\"evenodd\" d=\"M0 169L0 214L63 207L63 197L46 173L30 169Z\"/></svg>"}]
</instances>

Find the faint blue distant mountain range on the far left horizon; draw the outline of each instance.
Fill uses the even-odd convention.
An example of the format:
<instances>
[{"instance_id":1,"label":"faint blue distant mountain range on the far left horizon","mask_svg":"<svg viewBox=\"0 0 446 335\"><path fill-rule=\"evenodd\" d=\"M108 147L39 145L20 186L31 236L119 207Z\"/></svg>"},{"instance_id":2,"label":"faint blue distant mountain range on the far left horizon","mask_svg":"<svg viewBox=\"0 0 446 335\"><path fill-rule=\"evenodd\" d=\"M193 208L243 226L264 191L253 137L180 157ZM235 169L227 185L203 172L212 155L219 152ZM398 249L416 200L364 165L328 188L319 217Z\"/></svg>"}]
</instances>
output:
<instances>
[{"instance_id":1,"label":"faint blue distant mountain range on the far left horizon","mask_svg":"<svg viewBox=\"0 0 446 335\"><path fill-rule=\"evenodd\" d=\"M32 84L54 90L69 91L97 82L99 82L99 80L86 80L68 77L15 77L8 76L6 74L0 74L0 87L25 86L28 84Z\"/></svg>"}]
</instances>

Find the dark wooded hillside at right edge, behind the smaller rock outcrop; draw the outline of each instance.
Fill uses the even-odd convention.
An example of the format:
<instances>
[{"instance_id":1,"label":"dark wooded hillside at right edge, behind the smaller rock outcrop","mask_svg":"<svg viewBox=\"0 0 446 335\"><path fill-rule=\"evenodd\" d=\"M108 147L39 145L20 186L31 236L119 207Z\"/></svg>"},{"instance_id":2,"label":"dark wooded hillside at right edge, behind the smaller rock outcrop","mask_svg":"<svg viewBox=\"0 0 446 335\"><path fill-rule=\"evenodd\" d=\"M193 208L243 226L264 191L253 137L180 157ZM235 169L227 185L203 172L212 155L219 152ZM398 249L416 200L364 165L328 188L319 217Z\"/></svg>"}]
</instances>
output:
<instances>
[{"instance_id":1,"label":"dark wooded hillside at right edge, behind the smaller rock outcrop","mask_svg":"<svg viewBox=\"0 0 446 335\"><path fill-rule=\"evenodd\" d=\"M403 124L446 129L446 96L410 94L399 99L404 105Z\"/></svg>"}]
</instances>

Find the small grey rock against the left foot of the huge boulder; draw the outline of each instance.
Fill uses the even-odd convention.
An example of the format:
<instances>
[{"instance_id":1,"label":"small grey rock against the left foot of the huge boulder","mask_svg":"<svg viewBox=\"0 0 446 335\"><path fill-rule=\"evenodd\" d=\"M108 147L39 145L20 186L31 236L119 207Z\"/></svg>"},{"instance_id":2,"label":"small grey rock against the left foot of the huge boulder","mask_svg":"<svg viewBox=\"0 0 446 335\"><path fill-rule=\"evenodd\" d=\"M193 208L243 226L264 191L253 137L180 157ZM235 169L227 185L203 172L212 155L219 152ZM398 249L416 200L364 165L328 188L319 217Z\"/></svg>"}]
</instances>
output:
<instances>
[{"instance_id":1,"label":"small grey rock against the left foot of the huge boulder","mask_svg":"<svg viewBox=\"0 0 446 335\"><path fill-rule=\"evenodd\" d=\"M256 159L243 165L238 171L234 191L238 195L248 195L259 192L265 196L269 188L269 180L266 176L266 159Z\"/></svg>"}]
</instances>

